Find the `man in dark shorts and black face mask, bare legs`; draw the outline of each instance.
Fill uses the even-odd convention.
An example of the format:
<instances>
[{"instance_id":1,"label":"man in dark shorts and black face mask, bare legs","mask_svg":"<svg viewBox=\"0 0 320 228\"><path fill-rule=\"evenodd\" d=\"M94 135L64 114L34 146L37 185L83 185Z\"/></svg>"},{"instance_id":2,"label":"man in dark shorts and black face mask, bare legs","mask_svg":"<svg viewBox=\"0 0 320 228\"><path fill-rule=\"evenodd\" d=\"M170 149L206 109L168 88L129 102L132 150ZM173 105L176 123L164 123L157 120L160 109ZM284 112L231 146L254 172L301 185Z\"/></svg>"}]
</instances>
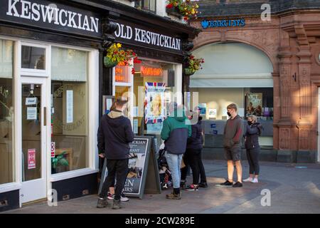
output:
<instances>
[{"instance_id":1,"label":"man in dark shorts and black face mask, bare legs","mask_svg":"<svg viewBox=\"0 0 320 228\"><path fill-rule=\"evenodd\" d=\"M228 180L221 186L242 187L242 166L241 166L241 138L243 135L242 118L237 113L237 105L234 103L227 107L230 118L225 124L223 133L223 147L225 160L228 161ZM237 170L238 181L233 184L234 165Z\"/></svg>"}]
</instances>

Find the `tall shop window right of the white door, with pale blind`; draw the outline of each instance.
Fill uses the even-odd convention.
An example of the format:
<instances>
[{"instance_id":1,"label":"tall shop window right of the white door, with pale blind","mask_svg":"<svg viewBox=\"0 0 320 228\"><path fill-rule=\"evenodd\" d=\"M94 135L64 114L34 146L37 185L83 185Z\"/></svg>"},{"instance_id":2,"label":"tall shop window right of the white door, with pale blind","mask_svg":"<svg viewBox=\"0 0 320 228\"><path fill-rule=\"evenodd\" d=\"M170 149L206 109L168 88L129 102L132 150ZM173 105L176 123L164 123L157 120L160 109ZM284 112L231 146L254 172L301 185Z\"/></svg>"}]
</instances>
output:
<instances>
[{"instance_id":1,"label":"tall shop window right of the white door, with pale blind","mask_svg":"<svg viewBox=\"0 0 320 228\"><path fill-rule=\"evenodd\" d=\"M52 47L52 173L88 167L88 53Z\"/></svg>"}]
</instances>

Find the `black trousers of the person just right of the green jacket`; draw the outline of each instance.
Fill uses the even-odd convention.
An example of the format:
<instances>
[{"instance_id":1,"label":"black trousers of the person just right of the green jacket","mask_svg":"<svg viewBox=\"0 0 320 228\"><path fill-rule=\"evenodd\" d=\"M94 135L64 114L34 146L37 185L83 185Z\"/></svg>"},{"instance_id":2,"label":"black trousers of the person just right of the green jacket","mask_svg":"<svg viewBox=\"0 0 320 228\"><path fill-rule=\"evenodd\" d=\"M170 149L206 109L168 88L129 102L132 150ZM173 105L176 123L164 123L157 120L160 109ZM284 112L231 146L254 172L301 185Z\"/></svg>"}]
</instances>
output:
<instances>
[{"instance_id":1,"label":"black trousers of the person just right of the green jacket","mask_svg":"<svg viewBox=\"0 0 320 228\"><path fill-rule=\"evenodd\" d=\"M203 175L201 175L201 182L206 182L206 174L201 160L201 149L187 149L183 157L183 162L185 162L186 167L181 170L181 180L186 180L188 166L190 166L192 170L193 185L198 185L201 171L203 172Z\"/></svg>"}]
</instances>

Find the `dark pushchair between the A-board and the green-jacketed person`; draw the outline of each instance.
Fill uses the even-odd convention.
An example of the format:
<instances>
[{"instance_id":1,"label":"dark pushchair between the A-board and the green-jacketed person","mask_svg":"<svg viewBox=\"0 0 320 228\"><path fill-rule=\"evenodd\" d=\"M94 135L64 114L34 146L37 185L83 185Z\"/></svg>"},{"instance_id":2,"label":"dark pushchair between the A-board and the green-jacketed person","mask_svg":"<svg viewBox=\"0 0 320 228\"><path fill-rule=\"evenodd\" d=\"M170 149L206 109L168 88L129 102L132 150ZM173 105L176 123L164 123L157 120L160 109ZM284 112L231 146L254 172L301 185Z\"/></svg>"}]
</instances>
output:
<instances>
[{"instance_id":1,"label":"dark pushchair between the A-board and the green-jacketed person","mask_svg":"<svg viewBox=\"0 0 320 228\"><path fill-rule=\"evenodd\" d=\"M171 172L169 170L168 163L166 162L166 157L164 156L164 152L166 152L166 150L164 149L159 150L159 157L158 157L161 190L166 190L172 186Z\"/></svg>"}]
</instances>

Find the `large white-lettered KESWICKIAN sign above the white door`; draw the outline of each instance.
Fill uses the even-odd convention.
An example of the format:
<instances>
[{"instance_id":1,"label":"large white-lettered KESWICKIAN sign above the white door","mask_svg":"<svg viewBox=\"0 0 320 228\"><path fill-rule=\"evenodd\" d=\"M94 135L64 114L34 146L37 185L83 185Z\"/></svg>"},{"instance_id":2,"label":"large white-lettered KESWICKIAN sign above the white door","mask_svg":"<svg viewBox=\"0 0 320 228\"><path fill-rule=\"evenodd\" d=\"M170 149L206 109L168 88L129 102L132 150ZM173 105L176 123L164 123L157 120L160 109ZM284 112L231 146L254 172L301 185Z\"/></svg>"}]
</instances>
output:
<instances>
[{"instance_id":1,"label":"large white-lettered KESWICKIAN sign above the white door","mask_svg":"<svg viewBox=\"0 0 320 228\"><path fill-rule=\"evenodd\" d=\"M90 11L47 0L1 1L0 20L50 30L101 36L100 19Z\"/></svg>"}]
</instances>

